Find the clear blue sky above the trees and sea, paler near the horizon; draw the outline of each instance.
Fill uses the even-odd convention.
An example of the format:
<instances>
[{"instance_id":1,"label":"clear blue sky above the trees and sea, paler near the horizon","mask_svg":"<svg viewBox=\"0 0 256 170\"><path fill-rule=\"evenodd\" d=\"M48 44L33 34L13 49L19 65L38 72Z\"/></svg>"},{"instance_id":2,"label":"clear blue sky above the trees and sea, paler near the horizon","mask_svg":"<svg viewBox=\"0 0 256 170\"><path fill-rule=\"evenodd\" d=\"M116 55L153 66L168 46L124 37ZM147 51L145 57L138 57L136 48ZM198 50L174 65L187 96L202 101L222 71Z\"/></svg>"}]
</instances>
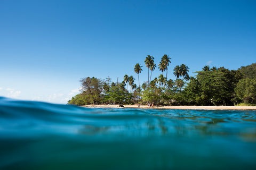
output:
<instances>
[{"instance_id":1,"label":"clear blue sky above the trees and sea, paler near the horizon","mask_svg":"<svg viewBox=\"0 0 256 170\"><path fill-rule=\"evenodd\" d=\"M0 96L67 103L81 78L117 81L164 54L190 75L256 60L256 1L0 1ZM158 77L158 69L153 77ZM138 83L138 82L137 82Z\"/></svg>"}]
</instances>

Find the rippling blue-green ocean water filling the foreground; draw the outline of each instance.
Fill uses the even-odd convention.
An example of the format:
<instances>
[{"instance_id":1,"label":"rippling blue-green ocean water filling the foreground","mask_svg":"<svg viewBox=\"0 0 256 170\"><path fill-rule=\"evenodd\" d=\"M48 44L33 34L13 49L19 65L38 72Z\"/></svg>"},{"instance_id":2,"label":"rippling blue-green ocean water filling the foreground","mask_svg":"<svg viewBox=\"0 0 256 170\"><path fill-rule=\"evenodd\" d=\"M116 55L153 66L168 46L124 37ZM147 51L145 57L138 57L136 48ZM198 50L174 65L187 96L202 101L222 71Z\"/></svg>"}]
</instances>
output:
<instances>
[{"instance_id":1,"label":"rippling blue-green ocean water filling the foreground","mask_svg":"<svg viewBox=\"0 0 256 170\"><path fill-rule=\"evenodd\" d=\"M256 111L0 98L0 169L255 169Z\"/></svg>"}]
</instances>

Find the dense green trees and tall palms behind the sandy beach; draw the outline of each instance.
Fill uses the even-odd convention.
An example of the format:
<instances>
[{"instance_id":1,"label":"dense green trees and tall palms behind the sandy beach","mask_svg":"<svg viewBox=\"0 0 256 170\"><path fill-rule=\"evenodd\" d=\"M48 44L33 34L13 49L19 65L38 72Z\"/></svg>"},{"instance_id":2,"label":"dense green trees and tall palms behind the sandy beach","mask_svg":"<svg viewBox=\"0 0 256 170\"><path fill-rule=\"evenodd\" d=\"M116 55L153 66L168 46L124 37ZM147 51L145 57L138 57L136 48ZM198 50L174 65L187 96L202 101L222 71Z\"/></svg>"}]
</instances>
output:
<instances>
[{"instance_id":1,"label":"dense green trees and tall palms behind the sandy beach","mask_svg":"<svg viewBox=\"0 0 256 170\"><path fill-rule=\"evenodd\" d=\"M137 63L134 73L138 74L138 86L133 76L127 74L121 83L112 82L110 78L87 77L81 80L81 94L68 104L256 105L256 63L231 71L206 65L195 77L189 77L189 67L181 64L174 67L176 79L172 80L167 79L171 58L165 54L158 64L162 74L151 80L156 68L154 59L148 55L144 61L148 81L142 85L139 81L142 65Z\"/></svg>"}]
</instances>

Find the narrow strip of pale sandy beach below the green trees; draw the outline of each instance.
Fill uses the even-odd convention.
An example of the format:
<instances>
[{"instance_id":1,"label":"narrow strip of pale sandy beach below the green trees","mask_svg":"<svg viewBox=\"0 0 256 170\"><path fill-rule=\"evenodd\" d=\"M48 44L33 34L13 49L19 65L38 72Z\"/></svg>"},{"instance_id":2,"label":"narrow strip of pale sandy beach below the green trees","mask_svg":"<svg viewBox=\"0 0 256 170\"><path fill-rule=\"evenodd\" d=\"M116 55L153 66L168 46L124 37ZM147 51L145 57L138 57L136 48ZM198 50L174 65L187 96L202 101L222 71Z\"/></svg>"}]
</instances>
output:
<instances>
[{"instance_id":1,"label":"narrow strip of pale sandy beach below the green trees","mask_svg":"<svg viewBox=\"0 0 256 170\"><path fill-rule=\"evenodd\" d=\"M181 110L234 110L234 111L256 111L256 106L154 106L147 105L84 105L86 108L142 108L142 109L181 109Z\"/></svg>"}]
</instances>

